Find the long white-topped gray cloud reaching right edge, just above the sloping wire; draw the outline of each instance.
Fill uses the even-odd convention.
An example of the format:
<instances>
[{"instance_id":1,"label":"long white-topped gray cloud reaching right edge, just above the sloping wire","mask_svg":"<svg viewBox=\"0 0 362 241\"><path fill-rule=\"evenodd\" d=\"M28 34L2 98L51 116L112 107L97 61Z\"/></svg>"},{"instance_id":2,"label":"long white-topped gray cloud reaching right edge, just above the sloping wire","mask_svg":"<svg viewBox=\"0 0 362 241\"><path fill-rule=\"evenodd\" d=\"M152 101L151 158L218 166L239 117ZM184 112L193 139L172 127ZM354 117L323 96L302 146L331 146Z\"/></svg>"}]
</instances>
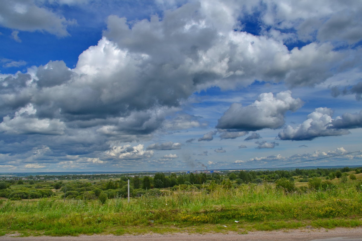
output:
<instances>
[{"instance_id":1,"label":"long white-topped gray cloud reaching right edge, just above the sloping wire","mask_svg":"<svg viewBox=\"0 0 362 241\"><path fill-rule=\"evenodd\" d=\"M312 140L316 137L346 135L350 133L349 128L362 127L362 112L345 113L336 119L332 116L332 109L316 108L302 124L295 128L286 126L282 132L279 132L278 137L282 140Z\"/></svg>"}]
</instances>

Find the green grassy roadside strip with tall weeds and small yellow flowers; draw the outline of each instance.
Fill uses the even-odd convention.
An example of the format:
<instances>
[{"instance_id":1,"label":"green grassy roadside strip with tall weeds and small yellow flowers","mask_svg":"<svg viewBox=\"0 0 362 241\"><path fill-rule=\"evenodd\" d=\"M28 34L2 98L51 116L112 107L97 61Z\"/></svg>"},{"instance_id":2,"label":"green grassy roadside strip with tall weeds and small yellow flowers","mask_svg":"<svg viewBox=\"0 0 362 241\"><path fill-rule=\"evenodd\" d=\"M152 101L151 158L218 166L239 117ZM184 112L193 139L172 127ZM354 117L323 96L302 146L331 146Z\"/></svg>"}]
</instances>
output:
<instances>
[{"instance_id":1,"label":"green grassy roadside strip with tall weeds and small yellow flowers","mask_svg":"<svg viewBox=\"0 0 362 241\"><path fill-rule=\"evenodd\" d=\"M0 208L0 235L77 236L112 233L237 232L362 225L362 193L354 182L326 191L284 194L274 185L241 185L212 191L171 191L161 197L6 201ZM236 223L239 221L239 223ZM227 226L227 227L224 227Z\"/></svg>"}]
</instances>

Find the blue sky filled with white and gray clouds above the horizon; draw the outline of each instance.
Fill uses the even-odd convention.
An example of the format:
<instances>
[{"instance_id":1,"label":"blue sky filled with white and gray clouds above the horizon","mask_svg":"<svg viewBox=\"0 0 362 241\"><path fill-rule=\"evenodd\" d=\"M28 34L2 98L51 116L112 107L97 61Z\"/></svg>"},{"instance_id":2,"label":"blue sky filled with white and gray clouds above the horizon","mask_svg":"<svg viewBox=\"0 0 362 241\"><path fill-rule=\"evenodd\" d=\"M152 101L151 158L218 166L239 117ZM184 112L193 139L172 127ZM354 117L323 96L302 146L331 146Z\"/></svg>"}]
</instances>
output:
<instances>
[{"instance_id":1,"label":"blue sky filled with white and gray clouds above the horizon","mask_svg":"<svg viewBox=\"0 0 362 241\"><path fill-rule=\"evenodd\" d=\"M0 1L0 171L361 165L362 1Z\"/></svg>"}]
</instances>

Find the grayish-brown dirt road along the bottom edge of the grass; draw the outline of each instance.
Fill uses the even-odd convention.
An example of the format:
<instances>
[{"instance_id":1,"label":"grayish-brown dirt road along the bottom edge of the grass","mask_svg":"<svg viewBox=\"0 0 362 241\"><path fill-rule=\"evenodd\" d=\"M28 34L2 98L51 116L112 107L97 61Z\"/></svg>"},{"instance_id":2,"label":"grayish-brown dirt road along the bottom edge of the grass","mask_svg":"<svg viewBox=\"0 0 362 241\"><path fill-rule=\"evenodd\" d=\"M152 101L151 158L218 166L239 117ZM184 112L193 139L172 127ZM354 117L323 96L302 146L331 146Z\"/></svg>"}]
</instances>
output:
<instances>
[{"instance_id":1,"label":"grayish-brown dirt road along the bottom edge of the grass","mask_svg":"<svg viewBox=\"0 0 362 241\"><path fill-rule=\"evenodd\" d=\"M1 236L0 241L362 241L362 228L297 229L287 231L256 231L248 234L144 234L144 235L81 235L78 237L11 237Z\"/></svg>"}]
</instances>

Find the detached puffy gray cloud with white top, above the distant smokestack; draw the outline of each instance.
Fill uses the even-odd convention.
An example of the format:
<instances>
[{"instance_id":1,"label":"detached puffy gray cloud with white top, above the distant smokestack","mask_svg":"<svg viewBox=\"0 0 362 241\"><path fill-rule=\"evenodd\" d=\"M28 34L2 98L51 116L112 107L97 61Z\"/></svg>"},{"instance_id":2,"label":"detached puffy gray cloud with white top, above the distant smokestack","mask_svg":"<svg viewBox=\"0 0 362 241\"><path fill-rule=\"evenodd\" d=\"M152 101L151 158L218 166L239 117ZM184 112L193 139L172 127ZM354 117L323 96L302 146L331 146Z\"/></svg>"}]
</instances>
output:
<instances>
[{"instance_id":1,"label":"detached puffy gray cloud with white top, above the distant smokestack","mask_svg":"<svg viewBox=\"0 0 362 241\"><path fill-rule=\"evenodd\" d=\"M279 128L284 125L287 111L296 111L302 106L302 100L291 97L290 91L260 94L249 106L233 103L218 120L216 128L255 131L264 128Z\"/></svg>"}]
</instances>

